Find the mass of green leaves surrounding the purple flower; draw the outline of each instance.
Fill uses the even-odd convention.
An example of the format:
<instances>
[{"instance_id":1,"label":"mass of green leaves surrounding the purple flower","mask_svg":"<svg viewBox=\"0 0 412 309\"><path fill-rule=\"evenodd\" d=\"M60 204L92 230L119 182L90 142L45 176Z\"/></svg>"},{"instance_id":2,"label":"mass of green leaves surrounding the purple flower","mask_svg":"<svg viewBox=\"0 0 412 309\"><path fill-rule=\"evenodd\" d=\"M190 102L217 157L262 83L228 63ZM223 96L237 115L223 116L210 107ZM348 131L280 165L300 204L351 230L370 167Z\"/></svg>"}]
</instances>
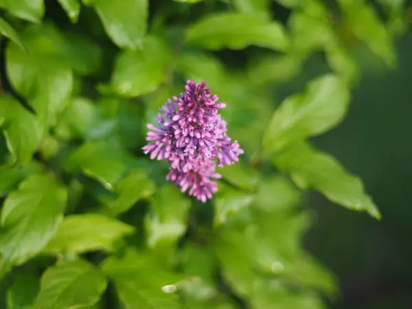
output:
<instances>
[{"instance_id":1,"label":"mass of green leaves surrounding the purple flower","mask_svg":"<svg viewBox=\"0 0 412 309\"><path fill-rule=\"evenodd\" d=\"M359 59L396 67L402 0L0 8L0 308L315 309L336 296L302 246L305 192L380 213L309 139L345 117ZM187 78L227 103L246 152L206 204L141 152L146 123Z\"/></svg>"}]
</instances>

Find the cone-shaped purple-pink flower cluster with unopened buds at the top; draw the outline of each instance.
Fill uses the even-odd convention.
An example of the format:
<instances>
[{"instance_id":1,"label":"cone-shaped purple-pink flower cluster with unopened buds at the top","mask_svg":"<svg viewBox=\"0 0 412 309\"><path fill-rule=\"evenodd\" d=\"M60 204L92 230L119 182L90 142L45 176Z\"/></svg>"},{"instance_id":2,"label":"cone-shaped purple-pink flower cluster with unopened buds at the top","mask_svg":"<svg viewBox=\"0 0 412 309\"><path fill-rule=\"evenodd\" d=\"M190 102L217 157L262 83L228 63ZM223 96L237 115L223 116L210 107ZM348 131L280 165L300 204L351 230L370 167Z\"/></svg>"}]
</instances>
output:
<instances>
[{"instance_id":1,"label":"cone-shaped purple-pink flower cluster with unopened buds at the top","mask_svg":"<svg viewBox=\"0 0 412 309\"><path fill-rule=\"evenodd\" d=\"M160 108L157 127L148 124L149 144L143 148L150 159L170 163L166 179L203 202L218 190L214 179L221 176L216 166L235 163L243 153L238 141L227 136L227 123L218 114L226 105L218 103L218 96L210 95L205 86L206 82L187 80L186 92Z\"/></svg>"}]
</instances>

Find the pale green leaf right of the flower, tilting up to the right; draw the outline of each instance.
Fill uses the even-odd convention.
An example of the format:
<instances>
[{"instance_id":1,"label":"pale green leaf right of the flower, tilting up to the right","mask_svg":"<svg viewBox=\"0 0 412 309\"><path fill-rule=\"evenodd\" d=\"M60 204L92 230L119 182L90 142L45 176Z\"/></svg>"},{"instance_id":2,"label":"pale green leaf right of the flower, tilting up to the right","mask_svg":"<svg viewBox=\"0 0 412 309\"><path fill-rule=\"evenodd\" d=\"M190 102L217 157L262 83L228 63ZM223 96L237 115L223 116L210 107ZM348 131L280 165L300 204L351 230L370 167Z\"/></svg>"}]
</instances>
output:
<instances>
[{"instance_id":1,"label":"pale green leaf right of the flower, tilting up to the right","mask_svg":"<svg viewBox=\"0 0 412 309\"><path fill-rule=\"evenodd\" d=\"M263 139L264 152L330 130L345 115L349 98L346 83L338 76L313 80L304 93L291 95L277 108Z\"/></svg>"}]
</instances>

